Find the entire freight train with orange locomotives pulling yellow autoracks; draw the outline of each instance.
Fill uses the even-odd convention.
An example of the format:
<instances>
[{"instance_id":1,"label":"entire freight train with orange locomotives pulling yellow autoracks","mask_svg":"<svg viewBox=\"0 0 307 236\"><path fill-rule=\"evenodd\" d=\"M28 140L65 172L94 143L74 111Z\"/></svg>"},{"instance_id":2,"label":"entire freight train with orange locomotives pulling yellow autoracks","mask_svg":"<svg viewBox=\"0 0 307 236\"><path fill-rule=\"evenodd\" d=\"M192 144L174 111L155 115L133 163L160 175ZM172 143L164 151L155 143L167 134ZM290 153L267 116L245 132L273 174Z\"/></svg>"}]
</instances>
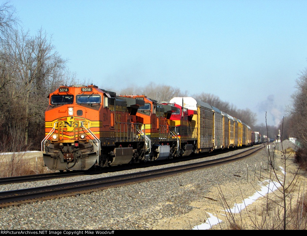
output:
<instances>
[{"instance_id":1,"label":"entire freight train with orange locomotives pulling yellow autoracks","mask_svg":"<svg viewBox=\"0 0 307 236\"><path fill-rule=\"evenodd\" d=\"M45 165L60 171L256 143L247 124L192 97L158 103L145 95L117 96L93 85L60 86L49 95L45 134Z\"/></svg>"}]
</instances>

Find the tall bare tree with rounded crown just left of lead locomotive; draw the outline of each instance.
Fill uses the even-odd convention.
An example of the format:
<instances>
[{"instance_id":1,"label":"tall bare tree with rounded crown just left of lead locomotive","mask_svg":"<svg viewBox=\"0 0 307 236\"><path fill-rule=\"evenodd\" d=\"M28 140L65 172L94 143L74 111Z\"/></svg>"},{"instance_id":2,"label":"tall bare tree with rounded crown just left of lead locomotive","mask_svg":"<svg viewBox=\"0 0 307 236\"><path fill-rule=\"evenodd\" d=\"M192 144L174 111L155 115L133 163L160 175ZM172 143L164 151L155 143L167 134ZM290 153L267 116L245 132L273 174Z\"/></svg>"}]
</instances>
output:
<instances>
[{"instance_id":1,"label":"tall bare tree with rounded crown just left of lead locomotive","mask_svg":"<svg viewBox=\"0 0 307 236\"><path fill-rule=\"evenodd\" d=\"M24 146L28 139L42 138L44 111L50 91L60 85L66 60L51 43L51 37L40 29L35 36L14 30L2 44L0 69L0 108L3 109L2 132L16 120L25 125ZM69 74L68 74L69 76ZM5 116L5 117L3 117ZM33 143L37 143L35 140Z\"/></svg>"}]
</instances>

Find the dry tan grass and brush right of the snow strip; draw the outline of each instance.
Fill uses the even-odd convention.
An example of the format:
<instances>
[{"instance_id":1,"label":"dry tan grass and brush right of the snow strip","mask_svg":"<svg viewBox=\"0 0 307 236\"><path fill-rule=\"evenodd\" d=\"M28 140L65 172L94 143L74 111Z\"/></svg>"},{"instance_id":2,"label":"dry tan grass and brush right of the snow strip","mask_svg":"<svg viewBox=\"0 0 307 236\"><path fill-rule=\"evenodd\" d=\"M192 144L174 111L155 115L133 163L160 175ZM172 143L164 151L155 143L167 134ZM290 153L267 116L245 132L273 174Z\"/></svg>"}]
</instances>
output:
<instances>
[{"instance_id":1,"label":"dry tan grass and brush right of the snow strip","mask_svg":"<svg viewBox=\"0 0 307 236\"><path fill-rule=\"evenodd\" d=\"M286 151L291 153L290 150ZM277 165L275 169L271 168L269 173L271 181L280 181L282 186L273 193L263 196L261 200L257 200L258 205L255 208L247 206L244 211L236 214L225 211L228 229L307 229L305 174L300 173L298 166L293 163L295 160L293 153L286 155L286 152L283 152L274 155L275 162L280 160L280 164L283 164L281 166L286 170L286 181L281 177L283 174L277 172ZM220 198L224 209L228 209L223 192L220 192Z\"/></svg>"}]
</instances>

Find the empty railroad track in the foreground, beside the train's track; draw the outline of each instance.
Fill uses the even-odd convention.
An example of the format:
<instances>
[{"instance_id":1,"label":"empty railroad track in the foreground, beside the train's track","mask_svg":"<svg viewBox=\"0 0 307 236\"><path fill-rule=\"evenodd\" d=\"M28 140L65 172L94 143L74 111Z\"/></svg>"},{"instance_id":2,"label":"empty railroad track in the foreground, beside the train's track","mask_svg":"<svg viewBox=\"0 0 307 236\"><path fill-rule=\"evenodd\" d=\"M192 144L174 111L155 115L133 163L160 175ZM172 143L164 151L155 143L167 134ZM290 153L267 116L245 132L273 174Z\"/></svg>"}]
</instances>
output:
<instances>
[{"instance_id":1,"label":"empty railroad track in the foreground, beside the train's track","mask_svg":"<svg viewBox=\"0 0 307 236\"><path fill-rule=\"evenodd\" d=\"M77 196L83 193L91 193L106 188L114 188L143 181L150 181L165 176L175 175L204 167L235 161L240 158L251 156L262 148L263 147L254 147L252 149L245 150L239 154L234 154L223 158L217 158L214 160L206 160L198 163L185 164L181 166L167 167L157 170L148 170L138 173L123 174L86 181L0 192L0 208L19 206L20 204L24 203L50 200L66 196Z\"/></svg>"}]
</instances>

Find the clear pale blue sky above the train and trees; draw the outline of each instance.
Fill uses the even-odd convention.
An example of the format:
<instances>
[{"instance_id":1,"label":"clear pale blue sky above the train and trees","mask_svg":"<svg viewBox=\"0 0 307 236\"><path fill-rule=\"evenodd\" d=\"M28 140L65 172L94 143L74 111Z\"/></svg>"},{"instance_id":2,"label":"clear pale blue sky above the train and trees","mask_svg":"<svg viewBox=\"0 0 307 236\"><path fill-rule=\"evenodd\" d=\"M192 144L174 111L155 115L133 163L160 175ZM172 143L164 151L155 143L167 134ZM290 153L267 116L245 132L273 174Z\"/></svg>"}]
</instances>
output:
<instances>
[{"instance_id":1,"label":"clear pale blue sky above the train and trees","mask_svg":"<svg viewBox=\"0 0 307 236\"><path fill-rule=\"evenodd\" d=\"M212 93L276 125L307 67L307 1L10 1L68 68L115 92Z\"/></svg>"}]
</instances>

